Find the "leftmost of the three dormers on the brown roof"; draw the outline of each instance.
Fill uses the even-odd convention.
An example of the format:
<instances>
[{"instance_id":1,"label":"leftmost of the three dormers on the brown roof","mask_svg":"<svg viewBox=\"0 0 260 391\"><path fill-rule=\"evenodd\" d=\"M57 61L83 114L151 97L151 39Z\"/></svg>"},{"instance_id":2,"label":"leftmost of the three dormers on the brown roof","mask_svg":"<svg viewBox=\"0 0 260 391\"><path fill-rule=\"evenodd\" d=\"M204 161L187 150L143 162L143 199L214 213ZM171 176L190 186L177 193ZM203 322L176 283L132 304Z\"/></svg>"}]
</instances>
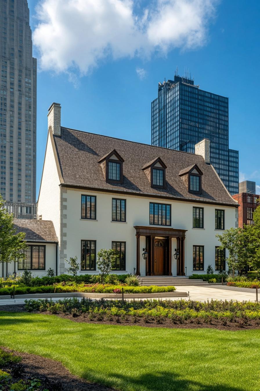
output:
<instances>
[{"instance_id":1,"label":"leftmost of the three dormers on the brown roof","mask_svg":"<svg viewBox=\"0 0 260 391\"><path fill-rule=\"evenodd\" d=\"M106 182L123 183L123 162L124 159L115 149L99 160Z\"/></svg>"}]
</instances>

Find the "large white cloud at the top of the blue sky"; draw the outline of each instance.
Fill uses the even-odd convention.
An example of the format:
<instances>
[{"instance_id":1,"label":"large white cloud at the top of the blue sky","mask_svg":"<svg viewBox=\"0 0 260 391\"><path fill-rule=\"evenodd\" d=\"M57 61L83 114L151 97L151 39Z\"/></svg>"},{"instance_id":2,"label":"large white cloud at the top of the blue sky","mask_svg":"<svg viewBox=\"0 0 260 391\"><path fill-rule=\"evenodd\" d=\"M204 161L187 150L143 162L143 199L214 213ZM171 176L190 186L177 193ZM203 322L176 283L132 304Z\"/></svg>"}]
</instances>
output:
<instances>
[{"instance_id":1,"label":"large white cloud at the top of the blue sky","mask_svg":"<svg viewBox=\"0 0 260 391\"><path fill-rule=\"evenodd\" d=\"M87 74L107 57L149 57L205 43L217 0L41 0L34 45L43 70ZM138 10L138 13L135 12Z\"/></svg>"}]
</instances>

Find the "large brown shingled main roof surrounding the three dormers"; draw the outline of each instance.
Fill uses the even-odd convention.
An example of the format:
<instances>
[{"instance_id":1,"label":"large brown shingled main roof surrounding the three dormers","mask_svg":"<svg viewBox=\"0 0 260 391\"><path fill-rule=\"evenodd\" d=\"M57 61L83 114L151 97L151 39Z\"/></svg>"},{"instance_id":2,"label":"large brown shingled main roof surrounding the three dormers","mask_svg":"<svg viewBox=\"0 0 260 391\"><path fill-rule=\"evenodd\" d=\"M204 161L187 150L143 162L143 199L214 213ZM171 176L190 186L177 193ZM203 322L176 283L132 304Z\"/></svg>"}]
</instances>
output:
<instances>
[{"instance_id":1,"label":"large brown shingled main roof surrounding the three dormers","mask_svg":"<svg viewBox=\"0 0 260 391\"><path fill-rule=\"evenodd\" d=\"M65 127L61 127L60 136L51 133L51 137L64 186L238 206L212 165L206 164L202 156ZM122 184L106 183L99 163L114 149L124 159ZM147 163L158 157L167 167L165 189L150 187L143 171ZM202 194L190 194L179 176L181 170L195 164L203 172Z\"/></svg>"}]
</instances>

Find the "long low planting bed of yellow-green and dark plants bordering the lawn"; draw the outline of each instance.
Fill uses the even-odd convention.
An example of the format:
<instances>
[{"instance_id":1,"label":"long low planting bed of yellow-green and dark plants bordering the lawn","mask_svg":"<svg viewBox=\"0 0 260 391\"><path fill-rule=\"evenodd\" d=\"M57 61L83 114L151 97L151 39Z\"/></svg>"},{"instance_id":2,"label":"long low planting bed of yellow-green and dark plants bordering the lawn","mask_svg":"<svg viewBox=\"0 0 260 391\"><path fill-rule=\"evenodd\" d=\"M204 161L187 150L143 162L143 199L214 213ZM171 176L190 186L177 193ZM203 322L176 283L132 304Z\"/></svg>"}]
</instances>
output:
<instances>
[{"instance_id":1,"label":"long low planting bed of yellow-green and dark plants bordering the lawn","mask_svg":"<svg viewBox=\"0 0 260 391\"><path fill-rule=\"evenodd\" d=\"M59 300L26 300L25 309L60 316L80 318L81 321L112 323L147 323L164 325L215 325L218 328L259 327L260 303L218 301L204 303L186 300L95 300L83 298ZM190 327L190 326L189 326Z\"/></svg>"}]
</instances>

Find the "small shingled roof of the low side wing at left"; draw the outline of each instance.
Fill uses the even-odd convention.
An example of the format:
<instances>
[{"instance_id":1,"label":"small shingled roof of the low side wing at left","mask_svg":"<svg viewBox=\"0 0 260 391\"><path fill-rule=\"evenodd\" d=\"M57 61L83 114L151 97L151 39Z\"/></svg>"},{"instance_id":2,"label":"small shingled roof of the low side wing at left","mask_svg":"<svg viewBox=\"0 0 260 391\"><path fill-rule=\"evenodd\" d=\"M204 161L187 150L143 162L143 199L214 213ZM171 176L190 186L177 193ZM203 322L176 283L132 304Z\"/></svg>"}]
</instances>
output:
<instances>
[{"instance_id":1,"label":"small shingled roof of the low side wing at left","mask_svg":"<svg viewBox=\"0 0 260 391\"><path fill-rule=\"evenodd\" d=\"M49 220L14 219L16 233L25 232L27 242L58 242L58 238Z\"/></svg>"}]
</instances>

